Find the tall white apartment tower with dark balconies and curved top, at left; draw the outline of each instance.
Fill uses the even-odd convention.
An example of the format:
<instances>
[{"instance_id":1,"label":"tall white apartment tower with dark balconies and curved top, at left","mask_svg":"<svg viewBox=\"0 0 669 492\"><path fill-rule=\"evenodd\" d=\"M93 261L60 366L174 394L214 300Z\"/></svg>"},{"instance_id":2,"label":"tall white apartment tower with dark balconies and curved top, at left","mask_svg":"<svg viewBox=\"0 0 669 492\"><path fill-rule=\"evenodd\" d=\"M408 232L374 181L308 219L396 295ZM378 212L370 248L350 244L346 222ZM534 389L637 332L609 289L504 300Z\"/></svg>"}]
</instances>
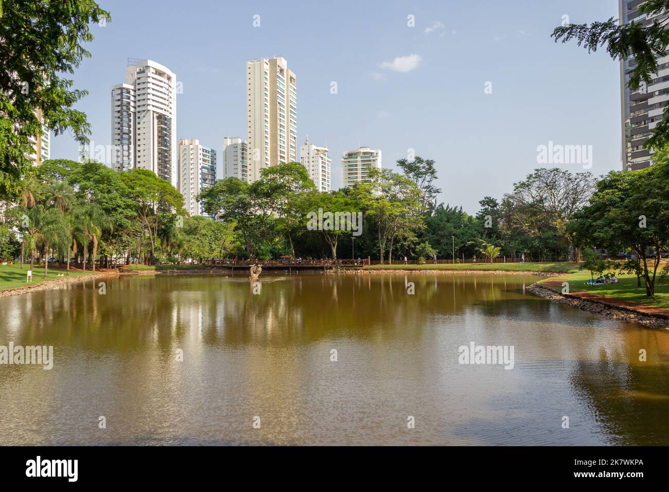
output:
<instances>
[{"instance_id":1,"label":"tall white apartment tower with dark balconies and curved top, at left","mask_svg":"<svg viewBox=\"0 0 669 492\"><path fill-rule=\"evenodd\" d=\"M177 76L153 60L128 58L112 86L112 167L149 169L177 186Z\"/></svg>"}]
</instances>

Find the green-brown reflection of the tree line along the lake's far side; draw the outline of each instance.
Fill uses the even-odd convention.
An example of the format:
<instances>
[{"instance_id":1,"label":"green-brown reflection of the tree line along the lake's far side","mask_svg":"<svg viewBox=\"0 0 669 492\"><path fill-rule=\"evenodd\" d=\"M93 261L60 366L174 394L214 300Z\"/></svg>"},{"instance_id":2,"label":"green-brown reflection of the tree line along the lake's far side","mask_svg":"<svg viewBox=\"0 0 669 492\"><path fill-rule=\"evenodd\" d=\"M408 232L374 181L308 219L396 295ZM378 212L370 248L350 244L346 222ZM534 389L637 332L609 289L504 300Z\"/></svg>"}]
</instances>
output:
<instances>
[{"instance_id":1,"label":"green-brown reflection of the tree line along the lake's far side","mask_svg":"<svg viewBox=\"0 0 669 492\"><path fill-rule=\"evenodd\" d=\"M415 284L413 295L408 282ZM106 295L86 282L21 297L13 311L25 345L168 350L188 333L205 343L301 344L415 335L431 317L473 305L503 308L505 284L485 276L300 274L264 276L256 295L246 276L121 277L108 280Z\"/></svg>"}]
</instances>

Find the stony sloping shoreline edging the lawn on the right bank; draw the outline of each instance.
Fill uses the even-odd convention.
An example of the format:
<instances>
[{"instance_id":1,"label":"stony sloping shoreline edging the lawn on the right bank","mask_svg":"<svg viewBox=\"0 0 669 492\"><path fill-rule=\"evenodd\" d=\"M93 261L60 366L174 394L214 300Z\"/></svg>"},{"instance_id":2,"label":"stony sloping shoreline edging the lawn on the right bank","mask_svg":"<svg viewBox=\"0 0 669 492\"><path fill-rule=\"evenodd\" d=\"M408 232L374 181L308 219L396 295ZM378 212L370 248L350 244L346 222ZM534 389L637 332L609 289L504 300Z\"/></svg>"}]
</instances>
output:
<instances>
[{"instance_id":1,"label":"stony sloping shoreline edging the lawn on the right bank","mask_svg":"<svg viewBox=\"0 0 669 492\"><path fill-rule=\"evenodd\" d=\"M669 328L669 315L661 313L644 313L644 307L638 308L630 305L608 303L604 299L585 299L575 294L561 294L549 287L545 287L538 282L527 288L528 291L548 299L553 303L566 304L571 307L577 307L581 311L593 313L609 319L624 319L625 321L634 321L640 325L649 328Z\"/></svg>"}]
</instances>

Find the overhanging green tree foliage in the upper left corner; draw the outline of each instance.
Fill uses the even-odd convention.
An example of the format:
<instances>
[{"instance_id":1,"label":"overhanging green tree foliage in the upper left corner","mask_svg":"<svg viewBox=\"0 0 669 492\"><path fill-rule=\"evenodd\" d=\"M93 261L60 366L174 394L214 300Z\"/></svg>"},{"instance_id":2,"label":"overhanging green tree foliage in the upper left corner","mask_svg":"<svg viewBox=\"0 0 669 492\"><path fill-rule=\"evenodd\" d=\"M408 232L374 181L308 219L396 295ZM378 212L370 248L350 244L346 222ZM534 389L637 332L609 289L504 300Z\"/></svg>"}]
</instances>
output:
<instances>
[{"instance_id":1,"label":"overhanging green tree foliage in the upper left corner","mask_svg":"<svg viewBox=\"0 0 669 492\"><path fill-rule=\"evenodd\" d=\"M110 21L92 0L13 0L3 4L0 22L0 197L19 195L31 172L29 137L44 125L56 135L71 131L88 142L90 125L74 105L86 96L73 90L73 73L90 57L90 23Z\"/></svg>"}]
</instances>

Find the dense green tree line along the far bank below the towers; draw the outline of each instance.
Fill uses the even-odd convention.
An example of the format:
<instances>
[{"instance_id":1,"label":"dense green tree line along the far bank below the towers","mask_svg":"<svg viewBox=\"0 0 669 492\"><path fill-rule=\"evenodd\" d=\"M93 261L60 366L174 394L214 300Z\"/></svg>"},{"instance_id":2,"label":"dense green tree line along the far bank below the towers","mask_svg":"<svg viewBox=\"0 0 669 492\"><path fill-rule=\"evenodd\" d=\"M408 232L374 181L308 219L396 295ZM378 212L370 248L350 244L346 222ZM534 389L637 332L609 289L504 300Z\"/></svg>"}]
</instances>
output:
<instances>
[{"instance_id":1,"label":"dense green tree line along the far bank below the towers","mask_svg":"<svg viewBox=\"0 0 669 492\"><path fill-rule=\"evenodd\" d=\"M471 216L435 205L434 161L397 164L401 172L375 170L369 183L329 193L316 191L300 163L264 169L251 184L221 179L199 196L211 220L187 217L181 194L151 171L46 161L19 182L17 201L5 200L0 251L82 268L235 257L573 257L567 221L587 203L591 175L537 169L502 199L484 197ZM343 220L310 228L318 214Z\"/></svg>"}]
</instances>

